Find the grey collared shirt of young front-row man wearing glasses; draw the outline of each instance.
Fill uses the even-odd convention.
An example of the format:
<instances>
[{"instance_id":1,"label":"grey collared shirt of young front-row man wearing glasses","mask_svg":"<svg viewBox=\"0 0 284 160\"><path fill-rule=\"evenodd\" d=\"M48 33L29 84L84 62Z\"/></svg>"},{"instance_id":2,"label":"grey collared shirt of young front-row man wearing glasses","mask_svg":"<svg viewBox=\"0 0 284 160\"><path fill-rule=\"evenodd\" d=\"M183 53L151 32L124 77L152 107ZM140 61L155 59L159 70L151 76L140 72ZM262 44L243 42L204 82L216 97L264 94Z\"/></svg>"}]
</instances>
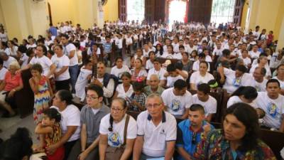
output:
<instances>
[{"instance_id":1,"label":"grey collared shirt of young front-row man wearing glasses","mask_svg":"<svg viewBox=\"0 0 284 160\"><path fill-rule=\"evenodd\" d=\"M99 136L99 124L101 123L102 117L110 112L109 107L102 105L99 111L94 114L92 107L84 105L81 110L81 124L86 124L87 130L87 144L94 142Z\"/></svg>"}]
</instances>

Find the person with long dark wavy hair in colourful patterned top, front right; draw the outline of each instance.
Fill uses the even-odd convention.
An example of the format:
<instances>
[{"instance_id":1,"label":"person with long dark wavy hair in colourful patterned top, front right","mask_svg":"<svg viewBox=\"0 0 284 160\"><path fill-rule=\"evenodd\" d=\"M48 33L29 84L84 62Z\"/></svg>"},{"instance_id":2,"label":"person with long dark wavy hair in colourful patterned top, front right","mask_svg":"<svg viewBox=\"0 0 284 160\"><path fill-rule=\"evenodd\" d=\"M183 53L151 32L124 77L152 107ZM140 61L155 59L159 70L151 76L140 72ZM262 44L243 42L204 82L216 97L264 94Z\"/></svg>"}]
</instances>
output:
<instances>
[{"instance_id":1,"label":"person with long dark wavy hair in colourful patterned top, front right","mask_svg":"<svg viewBox=\"0 0 284 160\"><path fill-rule=\"evenodd\" d=\"M204 132L195 159L276 159L269 146L258 139L259 132L258 115L253 107L245 103L231 105L224 115L222 129Z\"/></svg>"}]
</instances>

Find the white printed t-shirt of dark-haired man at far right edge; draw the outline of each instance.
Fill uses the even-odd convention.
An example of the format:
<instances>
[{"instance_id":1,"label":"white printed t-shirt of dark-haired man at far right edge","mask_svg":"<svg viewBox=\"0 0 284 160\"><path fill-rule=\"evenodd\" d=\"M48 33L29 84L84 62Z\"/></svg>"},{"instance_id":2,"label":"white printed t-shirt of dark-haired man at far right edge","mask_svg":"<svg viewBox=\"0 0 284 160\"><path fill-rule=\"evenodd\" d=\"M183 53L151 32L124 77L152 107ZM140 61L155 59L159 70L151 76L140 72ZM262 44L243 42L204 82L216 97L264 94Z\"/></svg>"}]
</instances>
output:
<instances>
[{"instance_id":1,"label":"white printed t-shirt of dark-haired man at far right edge","mask_svg":"<svg viewBox=\"0 0 284 160\"><path fill-rule=\"evenodd\" d=\"M266 127L279 129L281 116L284 114L284 96L279 95L276 100L272 100L267 94L267 92L258 92L256 104L266 112L266 116L263 117L263 124Z\"/></svg>"}]
</instances>

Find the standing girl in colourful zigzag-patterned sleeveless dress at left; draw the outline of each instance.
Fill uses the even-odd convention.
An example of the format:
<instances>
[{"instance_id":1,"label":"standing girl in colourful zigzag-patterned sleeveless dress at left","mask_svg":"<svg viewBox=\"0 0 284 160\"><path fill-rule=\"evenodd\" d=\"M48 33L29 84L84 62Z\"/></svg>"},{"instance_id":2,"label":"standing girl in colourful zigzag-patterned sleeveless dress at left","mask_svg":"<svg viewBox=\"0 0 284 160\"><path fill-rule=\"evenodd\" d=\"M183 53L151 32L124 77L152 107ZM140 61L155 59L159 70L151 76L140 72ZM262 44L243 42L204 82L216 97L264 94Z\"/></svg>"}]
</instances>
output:
<instances>
[{"instance_id":1,"label":"standing girl in colourful zigzag-patterned sleeveless dress at left","mask_svg":"<svg viewBox=\"0 0 284 160\"><path fill-rule=\"evenodd\" d=\"M41 122L43 119L43 111L48 109L50 97L53 95L53 90L50 86L48 78L41 75L43 68L40 64L34 64L31 67L31 75L29 83L33 93L35 94L35 100L33 105L33 120L35 124Z\"/></svg>"}]
</instances>

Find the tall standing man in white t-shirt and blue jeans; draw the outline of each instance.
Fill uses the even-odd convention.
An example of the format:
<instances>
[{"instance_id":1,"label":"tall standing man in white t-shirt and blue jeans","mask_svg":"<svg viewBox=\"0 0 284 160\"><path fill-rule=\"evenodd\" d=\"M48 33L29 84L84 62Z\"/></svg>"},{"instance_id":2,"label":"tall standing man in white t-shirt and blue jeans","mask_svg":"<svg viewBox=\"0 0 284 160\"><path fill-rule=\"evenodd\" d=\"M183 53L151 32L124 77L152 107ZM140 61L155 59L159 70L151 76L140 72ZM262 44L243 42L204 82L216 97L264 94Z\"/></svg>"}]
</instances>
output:
<instances>
[{"instance_id":1,"label":"tall standing man in white t-shirt and blue jeans","mask_svg":"<svg viewBox=\"0 0 284 160\"><path fill-rule=\"evenodd\" d=\"M74 44L69 43L68 41L69 36L66 34L63 34L61 36L61 43L63 45L63 53L64 55L67 55L67 57L70 59L69 64L69 73L70 73L70 83L72 85L72 94L75 94L75 85L77 81L77 77L79 74L79 65L78 65L78 58L76 54L76 47Z\"/></svg>"}]
</instances>

